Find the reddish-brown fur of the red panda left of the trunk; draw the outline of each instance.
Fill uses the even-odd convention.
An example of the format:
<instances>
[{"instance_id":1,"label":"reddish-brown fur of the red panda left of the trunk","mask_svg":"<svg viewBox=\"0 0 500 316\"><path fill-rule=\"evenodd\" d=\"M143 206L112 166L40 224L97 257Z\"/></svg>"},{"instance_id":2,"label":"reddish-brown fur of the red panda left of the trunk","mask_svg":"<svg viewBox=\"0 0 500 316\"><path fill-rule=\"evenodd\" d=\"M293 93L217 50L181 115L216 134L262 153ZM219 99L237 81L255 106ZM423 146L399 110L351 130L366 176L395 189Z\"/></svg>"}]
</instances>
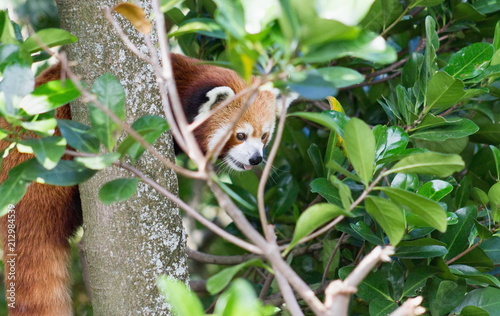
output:
<instances>
[{"instance_id":1,"label":"reddish-brown fur of the red panda left of the trunk","mask_svg":"<svg viewBox=\"0 0 500 316\"><path fill-rule=\"evenodd\" d=\"M36 85L59 79L60 73L59 66L49 68L36 79ZM57 118L71 119L68 105L59 108ZM3 119L0 119L0 126L7 128ZM7 142L0 141L0 150L7 146ZM4 160L0 182L7 178L11 168L29 158L32 156L12 151ZM81 206L77 187L58 187L39 183L30 185L25 197L15 207L14 252L7 247L9 237L7 221L7 216L0 218L5 285L7 290L12 288L15 290L15 308L9 308L9 315L72 314L68 289L68 238L81 225ZM15 280L9 280L8 260L12 258L15 258L13 266ZM8 296L11 293L13 292L8 291Z\"/></svg>"}]
</instances>

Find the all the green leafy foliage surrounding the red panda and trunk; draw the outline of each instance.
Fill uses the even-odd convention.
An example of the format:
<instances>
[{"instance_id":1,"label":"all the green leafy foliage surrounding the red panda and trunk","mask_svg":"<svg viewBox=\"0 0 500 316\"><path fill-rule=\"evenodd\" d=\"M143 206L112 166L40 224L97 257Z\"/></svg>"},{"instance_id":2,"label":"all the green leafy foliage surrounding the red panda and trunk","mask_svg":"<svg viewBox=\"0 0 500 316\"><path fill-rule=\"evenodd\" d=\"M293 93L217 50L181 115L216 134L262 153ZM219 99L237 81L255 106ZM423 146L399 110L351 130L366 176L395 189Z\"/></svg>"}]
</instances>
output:
<instances>
[{"instance_id":1,"label":"all the green leafy foliage surrounding the red panda and trunk","mask_svg":"<svg viewBox=\"0 0 500 316\"><path fill-rule=\"evenodd\" d=\"M185 54L232 67L248 81L261 75L308 99L289 110L265 204L287 245L283 255L309 285L344 279L376 245L392 244L394 261L360 284L352 314L386 315L416 295L431 315L498 314L499 1L203 0L162 1L162 9ZM125 94L109 74L92 88L92 127L58 120L62 137L54 134L53 110L79 92L69 81L33 89L37 42L23 41L6 12L0 15L0 115L11 126L0 139L12 144L0 156L20 150L36 157L0 185L0 212L32 181L70 185L121 159L139 159L144 149L132 137L116 146L121 127L104 111L123 120ZM38 38L48 46L75 40L51 29ZM147 116L132 128L151 144L168 124ZM84 157L61 160L66 143ZM97 155L101 144L107 153ZM194 181L180 179L183 199L197 197L200 209L213 209L212 194L195 191ZM217 182L260 227L257 175L221 174ZM137 184L114 180L100 198L123 201ZM299 247L334 219L333 229ZM243 236L233 223L224 228ZM203 247L242 254L219 239ZM279 295L276 284L264 286L269 273L259 260L193 271L208 278L211 294L227 287L218 315L272 314L254 292ZM242 275L252 285L231 283ZM162 278L159 287L180 315L204 314L182 286Z\"/></svg>"}]
</instances>

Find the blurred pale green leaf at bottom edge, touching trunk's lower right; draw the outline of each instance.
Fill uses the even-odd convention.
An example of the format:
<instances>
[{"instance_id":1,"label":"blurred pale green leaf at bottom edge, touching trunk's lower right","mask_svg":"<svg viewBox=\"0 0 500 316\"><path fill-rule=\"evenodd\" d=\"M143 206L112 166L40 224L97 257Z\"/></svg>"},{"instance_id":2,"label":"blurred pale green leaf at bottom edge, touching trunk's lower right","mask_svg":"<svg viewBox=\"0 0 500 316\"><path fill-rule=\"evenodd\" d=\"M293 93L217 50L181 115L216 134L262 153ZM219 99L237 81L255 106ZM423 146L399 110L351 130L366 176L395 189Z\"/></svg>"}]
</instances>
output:
<instances>
[{"instance_id":1,"label":"blurred pale green leaf at bottom edge, touching trunk's lower right","mask_svg":"<svg viewBox=\"0 0 500 316\"><path fill-rule=\"evenodd\" d=\"M165 275L156 281L160 293L179 316L204 316L200 299L186 285Z\"/></svg>"}]
</instances>

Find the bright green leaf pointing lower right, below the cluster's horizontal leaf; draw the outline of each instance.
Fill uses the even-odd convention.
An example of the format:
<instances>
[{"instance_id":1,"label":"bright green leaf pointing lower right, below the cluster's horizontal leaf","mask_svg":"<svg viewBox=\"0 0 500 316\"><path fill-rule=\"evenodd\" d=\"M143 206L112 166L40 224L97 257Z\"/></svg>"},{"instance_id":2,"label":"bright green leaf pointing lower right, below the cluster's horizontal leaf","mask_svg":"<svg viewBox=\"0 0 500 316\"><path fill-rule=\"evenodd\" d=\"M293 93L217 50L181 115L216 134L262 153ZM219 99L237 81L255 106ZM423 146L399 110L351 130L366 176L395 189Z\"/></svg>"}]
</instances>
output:
<instances>
[{"instance_id":1,"label":"bright green leaf pointing lower right, below the cluster's horizontal leaf","mask_svg":"<svg viewBox=\"0 0 500 316\"><path fill-rule=\"evenodd\" d=\"M412 213L430 227L446 231L446 212L439 204L415 193L396 188L379 188L389 198L400 205L407 207Z\"/></svg>"}]
</instances>

